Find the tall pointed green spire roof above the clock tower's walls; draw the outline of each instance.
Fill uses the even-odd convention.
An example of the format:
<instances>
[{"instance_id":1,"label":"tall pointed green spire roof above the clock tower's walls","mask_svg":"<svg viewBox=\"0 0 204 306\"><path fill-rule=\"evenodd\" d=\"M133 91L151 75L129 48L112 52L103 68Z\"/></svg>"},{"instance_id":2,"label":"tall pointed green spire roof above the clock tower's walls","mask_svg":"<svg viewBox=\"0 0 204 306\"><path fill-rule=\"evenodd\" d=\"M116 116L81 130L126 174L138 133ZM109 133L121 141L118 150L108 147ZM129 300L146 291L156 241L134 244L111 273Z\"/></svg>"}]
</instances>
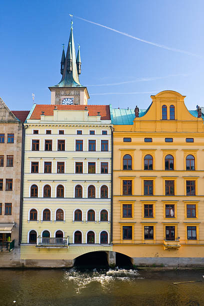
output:
<instances>
[{"instance_id":1,"label":"tall pointed green spire roof above the clock tower's walls","mask_svg":"<svg viewBox=\"0 0 204 306\"><path fill-rule=\"evenodd\" d=\"M76 53L73 39L73 27L71 21L71 30L68 40L66 57L64 60L64 68L60 82L53 87L84 87L80 84L78 79L78 72L76 66ZM80 53L79 53L80 57ZM71 61L71 62L70 62ZM70 68L69 68L70 65Z\"/></svg>"}]
</instances>

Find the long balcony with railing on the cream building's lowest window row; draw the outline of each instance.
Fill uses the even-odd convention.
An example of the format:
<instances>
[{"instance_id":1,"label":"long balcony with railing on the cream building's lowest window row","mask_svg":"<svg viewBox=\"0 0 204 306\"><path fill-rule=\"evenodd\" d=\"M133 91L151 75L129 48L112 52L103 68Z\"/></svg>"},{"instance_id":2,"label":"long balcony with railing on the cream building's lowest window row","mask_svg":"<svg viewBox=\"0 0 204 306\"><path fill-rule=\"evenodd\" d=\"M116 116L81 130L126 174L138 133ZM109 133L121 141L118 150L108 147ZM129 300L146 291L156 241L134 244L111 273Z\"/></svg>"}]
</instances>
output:
<instances>
[{"instance_id":1,"label":"long balcony with railing on the cream building's lowest window row","mask_svg":"<svg viewBox=\"0 0 204 306\"><path fill-rule=\"evenodd\" d=\"M68 248L68 236L66 238L59 237L37 237L37 245L36 247L41 248Z\"/></svg>"}]
</instances>

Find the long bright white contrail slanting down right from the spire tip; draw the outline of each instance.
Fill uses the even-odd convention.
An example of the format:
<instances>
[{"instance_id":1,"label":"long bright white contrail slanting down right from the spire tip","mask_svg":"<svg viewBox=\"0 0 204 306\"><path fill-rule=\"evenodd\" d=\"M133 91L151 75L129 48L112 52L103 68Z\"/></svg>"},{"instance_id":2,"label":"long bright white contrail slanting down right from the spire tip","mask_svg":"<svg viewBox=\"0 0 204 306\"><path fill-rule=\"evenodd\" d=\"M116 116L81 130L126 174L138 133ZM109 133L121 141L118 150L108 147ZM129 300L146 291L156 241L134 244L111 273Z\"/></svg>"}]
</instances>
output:
<instances>
[{"instance_id":1,"label":"long bright white contrail slanting down right from the spire tip","mask_svg":"<svg viewBox=\"0 0 204 306\"><path fill-rule=\"evenodd\" d=\"M86 22L89 22L89 23L92 23L92 24L99 25L99 26L101 26L101 27L107 28L107 29L109 29L109 30L111 30L111 31L114 31L114 32L116 32L116 33L119 33L119 34L121 34L121 35L130 37L130 38L133 38L133 39L136 39L136 40L145 42L145 43L149 43L149 44L155 45L155 46L157 46L157 47L159 47L159 48L163 48L163 49L167 49L167 50L170 50L170 51L179 52L179 53L183 53L183 54L187 54L187 55L191 55L191 56L196 56L196 57L200 57L200 58L202 57L202 56L200 56L200 55L197 55L197 54L194 54L194 53L185 51L185 50L180 50L180 49L176 49L176 48L171 48L171 47L168 47L168 46L166 46L166 45L164 45L164 44L159 44L159 43L156 43L156 42L144 40L144 39L141 39L141 38L139 38L139 37L132 36L132 35L130 35L130 34L128 34L128 33L118 31L118 30L116 30L116 29L114 29L114 28L111 28L111 27L109 27L109 26L106 26L106 25L103 25L103 24L100 24L100 23L97 23L97 22L93 22L93 21L90 21L90 20L87 20L87 19L84 19L84 18L75 16L75 15L74 15L74 17L75 17L75 18L78 18L78 19L81 19L81 20L83 20L83 21L86 21Z\"/></svg>"}]
</instances>

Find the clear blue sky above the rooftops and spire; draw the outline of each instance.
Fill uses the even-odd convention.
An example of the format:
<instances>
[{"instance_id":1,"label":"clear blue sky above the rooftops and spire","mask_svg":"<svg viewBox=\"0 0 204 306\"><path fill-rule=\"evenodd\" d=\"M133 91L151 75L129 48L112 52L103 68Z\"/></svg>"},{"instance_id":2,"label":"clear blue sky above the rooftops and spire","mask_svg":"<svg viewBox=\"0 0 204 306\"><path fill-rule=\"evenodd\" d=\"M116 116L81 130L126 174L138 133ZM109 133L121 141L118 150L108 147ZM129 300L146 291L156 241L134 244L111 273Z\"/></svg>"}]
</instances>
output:
<instances>
[{"instance_id":1,"label":"clear blue sky above the rooftops and spire","mask_svg":"<svg viewBox=\"0 0 204 306\"><path fill-rule=\"evenodd\" d=\"M88 104L145 109L175 90L188 109L204 106L203 10L203 0L1 0L0 97L12 110L29 110L32 92L50 104L71 13Z\"/></svg>"}]
</instances>

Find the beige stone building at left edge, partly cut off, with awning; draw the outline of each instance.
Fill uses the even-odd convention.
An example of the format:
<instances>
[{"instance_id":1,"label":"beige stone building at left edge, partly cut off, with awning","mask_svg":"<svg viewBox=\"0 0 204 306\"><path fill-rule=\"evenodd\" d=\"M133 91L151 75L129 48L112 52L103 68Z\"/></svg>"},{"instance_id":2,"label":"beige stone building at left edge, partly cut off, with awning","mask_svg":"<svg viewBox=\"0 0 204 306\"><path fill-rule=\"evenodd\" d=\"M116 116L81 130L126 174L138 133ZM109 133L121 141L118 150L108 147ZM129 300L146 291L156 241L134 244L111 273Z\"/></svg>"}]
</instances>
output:
<instances>
[{"instance_id":1,"label":"beige stone building at left edge, partly cut off, with awning","mask_svg":"<svg viewBox=\"0 0 204 306\"><path fill-rule=\"evenodd\" d=\"M19 263L22 122L27 111L10 111L0 98L0 262ZM18 119L18 117L20 119Z\"/></svg>"}]
</instances>

